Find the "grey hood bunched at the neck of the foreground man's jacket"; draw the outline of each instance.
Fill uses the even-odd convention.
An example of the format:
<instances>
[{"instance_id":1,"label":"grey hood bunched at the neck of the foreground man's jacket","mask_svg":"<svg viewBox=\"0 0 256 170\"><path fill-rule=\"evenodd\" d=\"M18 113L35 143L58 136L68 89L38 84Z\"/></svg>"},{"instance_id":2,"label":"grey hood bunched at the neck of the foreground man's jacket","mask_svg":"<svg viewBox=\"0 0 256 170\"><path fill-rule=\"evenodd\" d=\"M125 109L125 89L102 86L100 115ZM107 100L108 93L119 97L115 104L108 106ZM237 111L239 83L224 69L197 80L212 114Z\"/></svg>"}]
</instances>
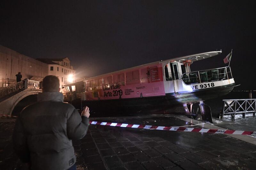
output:
<instances>
[{"instance_id":1,"label":"grey hood bunched at the neck of the foreground man's jacket","mask_svg":"<svg viewBox=\"0 0 256 170\"><path fill-rule=\"evenodd\" d=\"M63 94L60 92L38 93L37 101L61 101L61 102L63 102Z\"/></svg>"}]
</instances>

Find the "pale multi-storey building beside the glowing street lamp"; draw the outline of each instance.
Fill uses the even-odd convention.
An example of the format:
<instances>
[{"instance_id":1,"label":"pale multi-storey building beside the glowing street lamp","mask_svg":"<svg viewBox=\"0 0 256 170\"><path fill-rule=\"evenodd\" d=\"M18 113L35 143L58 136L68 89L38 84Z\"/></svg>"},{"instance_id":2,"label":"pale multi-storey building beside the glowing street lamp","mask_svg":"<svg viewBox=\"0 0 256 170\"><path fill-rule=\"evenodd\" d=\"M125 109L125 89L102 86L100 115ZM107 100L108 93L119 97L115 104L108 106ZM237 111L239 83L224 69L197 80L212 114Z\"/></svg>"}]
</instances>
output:
<instances>
[{"instance_id":1,"label":"pale multi-storey building beside the glowing street lamp","mask_svg":"<svg viewBox=\"0 0 256 170\"><path fill-rule=\"evenodd\" d=\"M70 65L70 60L66 58L38 58L38 61L48 64L48 75L57 76L60 79L61 92L66 92L63 85L73 83L75 70Z\"/></svg>"}]
</instances>

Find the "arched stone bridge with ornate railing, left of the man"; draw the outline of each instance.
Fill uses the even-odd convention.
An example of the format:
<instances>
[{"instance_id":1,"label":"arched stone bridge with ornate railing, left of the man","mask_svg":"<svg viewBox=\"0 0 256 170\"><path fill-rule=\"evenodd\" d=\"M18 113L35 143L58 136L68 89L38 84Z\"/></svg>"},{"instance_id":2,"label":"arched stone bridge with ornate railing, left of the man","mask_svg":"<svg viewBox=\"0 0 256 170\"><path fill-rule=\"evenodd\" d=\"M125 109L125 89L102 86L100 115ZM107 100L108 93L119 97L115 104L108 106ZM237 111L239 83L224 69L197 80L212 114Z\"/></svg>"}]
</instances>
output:
<instances>
[{"instance_id":1,"label":"arched stone bridge with ornate railing, left of the man","mask_svg":"<svg viewBox=\"0 0 256 170\"><path fill-rule=\"evenodd\" d=\"M28 79L0 89L0 114L18 115L24 107L36 101L39 92L42 92L40 82Z\"/></svg>"}]
</instances>

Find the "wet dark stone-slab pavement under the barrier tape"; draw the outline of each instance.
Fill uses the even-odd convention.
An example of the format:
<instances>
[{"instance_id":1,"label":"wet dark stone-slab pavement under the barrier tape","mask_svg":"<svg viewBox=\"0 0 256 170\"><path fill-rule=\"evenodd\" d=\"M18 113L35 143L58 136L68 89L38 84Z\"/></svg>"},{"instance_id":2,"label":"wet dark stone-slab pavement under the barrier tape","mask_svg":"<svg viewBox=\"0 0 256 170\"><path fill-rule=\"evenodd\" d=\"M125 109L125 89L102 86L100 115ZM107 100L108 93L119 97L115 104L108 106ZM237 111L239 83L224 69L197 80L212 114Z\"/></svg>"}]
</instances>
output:
<instances>
[{"instance_id":1,"label":"wet dark stone-slab pavement under the barrier tape","mask_svg":"<svg viewBox=\"0 0 256 170\"><path fill-rule=\"evenodd\" d=\"M172 115L91 118L158 126L191 125ZM0 118L0 169L22 169L12 149L15 119ZM199 126L194 126L199 127ZM255 169L256 145L223 134L90 125L73 141L77 169Z\"/></svg>"}]
</instances>

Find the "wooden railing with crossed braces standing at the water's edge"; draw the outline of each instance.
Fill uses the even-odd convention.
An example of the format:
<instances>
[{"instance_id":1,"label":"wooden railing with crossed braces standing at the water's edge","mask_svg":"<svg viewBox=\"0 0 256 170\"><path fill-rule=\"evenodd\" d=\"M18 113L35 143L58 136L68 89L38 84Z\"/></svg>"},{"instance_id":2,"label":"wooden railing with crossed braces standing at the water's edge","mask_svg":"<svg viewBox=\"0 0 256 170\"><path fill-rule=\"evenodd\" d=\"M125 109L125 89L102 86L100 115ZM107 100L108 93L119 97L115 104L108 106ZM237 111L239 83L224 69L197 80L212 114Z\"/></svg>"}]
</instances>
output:
<instances>
[{"instance_id":1,"label":"wooden railing with crossed braces standing at the water's edge","mask_svg":"<svg viewBox=\"0 0 256 170\"><path fill-rule=\"evenodd\" d=\"M221 118L224 115L231 115L234 117L236 114L253 113L256 112L256 99L227 99L224 101L223 112Z\"/></svg>"}]
</instances>

